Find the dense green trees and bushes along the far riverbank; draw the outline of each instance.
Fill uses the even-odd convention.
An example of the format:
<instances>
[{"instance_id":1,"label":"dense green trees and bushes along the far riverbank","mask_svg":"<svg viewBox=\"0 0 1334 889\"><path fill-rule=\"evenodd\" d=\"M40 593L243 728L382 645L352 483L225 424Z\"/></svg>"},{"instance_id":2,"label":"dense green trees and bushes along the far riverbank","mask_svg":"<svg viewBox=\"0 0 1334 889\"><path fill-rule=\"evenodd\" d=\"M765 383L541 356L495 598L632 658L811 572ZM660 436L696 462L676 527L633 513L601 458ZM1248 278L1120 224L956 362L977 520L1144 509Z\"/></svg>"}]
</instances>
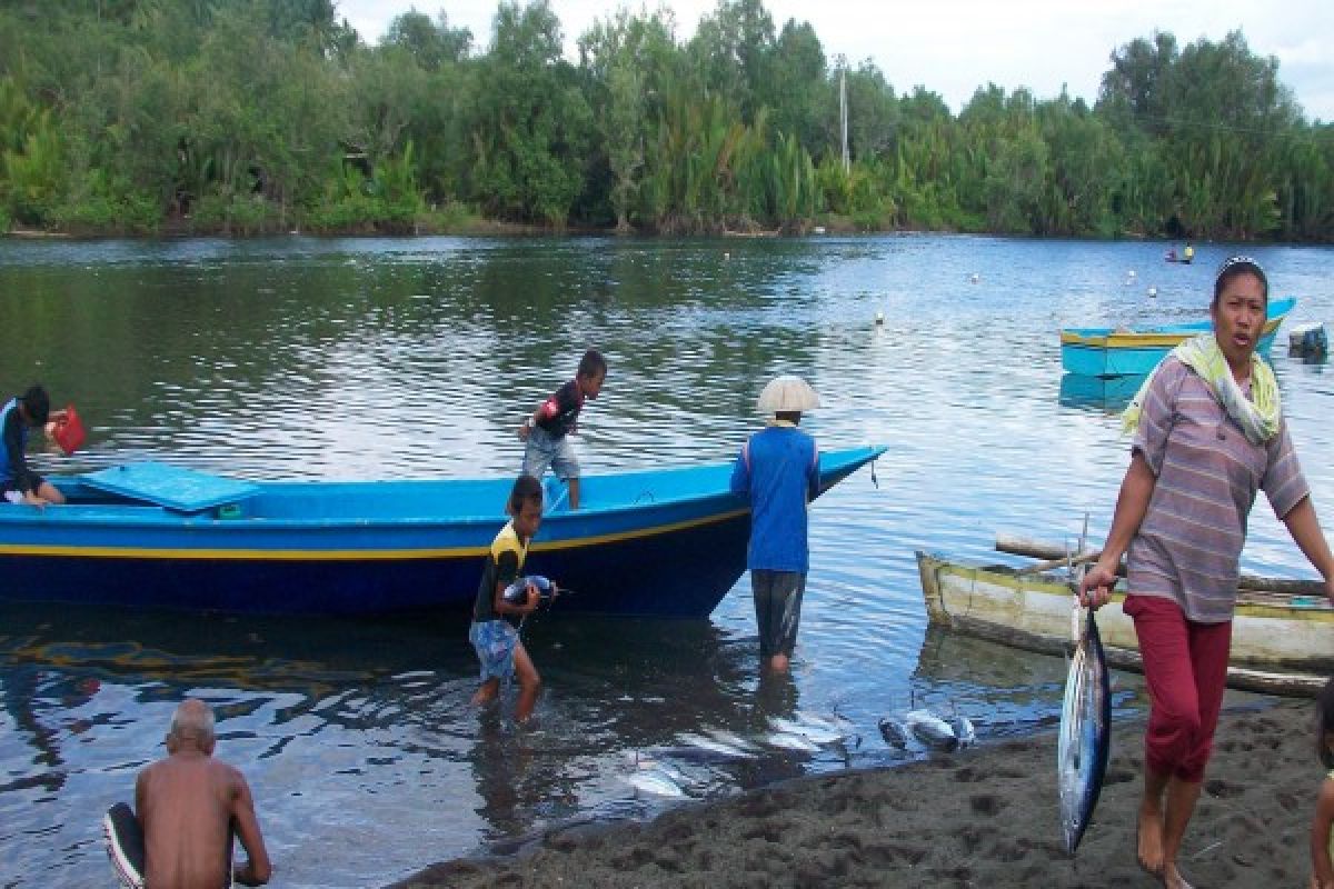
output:
<instances>
[{"instance_id":1,"label":"dense green trees and bushes along the far riverbank","mask_svg":"<svg viewBox=\"0 0 1334 889\"><path fill-rule=\"evenodd\" d=\"M484 51L444 12L367 45L334 0L0 0L0 231L1334 240L1334 125L1241 33L1115 49L1093 108L986 85L955 116L760 0L675 31L622 9L572 63L547 0Z\"/></svg>"}]
</instances>

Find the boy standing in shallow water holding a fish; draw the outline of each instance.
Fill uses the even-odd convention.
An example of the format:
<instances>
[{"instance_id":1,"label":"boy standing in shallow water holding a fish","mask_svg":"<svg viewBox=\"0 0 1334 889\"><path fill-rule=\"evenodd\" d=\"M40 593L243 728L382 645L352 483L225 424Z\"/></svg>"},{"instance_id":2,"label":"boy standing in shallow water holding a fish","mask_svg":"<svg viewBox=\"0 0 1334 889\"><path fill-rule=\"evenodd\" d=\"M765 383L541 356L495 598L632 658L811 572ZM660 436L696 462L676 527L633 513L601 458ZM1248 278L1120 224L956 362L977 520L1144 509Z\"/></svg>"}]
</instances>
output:
<instances>
[{"instance_id":1,"label":"boy standing in shallow water holding a fish","mask_svg":"<svg viewBox=\"0 0 1334 889\"><path fill-rule=\"evenodd\" d=\"M528 584L527 597L522 602L511 602L504 592L519 578L528 544L542 525L542 482L535 476L523 474L515 480L506 513L511 518L491 542L472 604L468 641L482 662L482 688L472 696L472 702L478 706L490 704L500 692L500 681L518 674L519 701L514 716L523 722L532 714L542 677L519 638L519 626L526 616L536 610L540 593Z\"/></svg>"}]
</instances>

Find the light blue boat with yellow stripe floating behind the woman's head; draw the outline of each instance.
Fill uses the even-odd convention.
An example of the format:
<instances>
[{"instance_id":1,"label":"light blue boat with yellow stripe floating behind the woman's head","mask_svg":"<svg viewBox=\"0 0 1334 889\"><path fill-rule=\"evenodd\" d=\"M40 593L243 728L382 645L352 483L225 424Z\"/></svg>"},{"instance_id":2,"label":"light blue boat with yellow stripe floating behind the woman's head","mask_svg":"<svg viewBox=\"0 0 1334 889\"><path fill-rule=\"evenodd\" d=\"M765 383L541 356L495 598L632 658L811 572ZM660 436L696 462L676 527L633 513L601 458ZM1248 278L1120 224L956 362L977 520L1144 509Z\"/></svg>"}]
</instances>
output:
<instances>
[{"instance_id":1,"label":"light blue boat with yellow stripe floating behind the woman's head","mask_svg":"<svg viewBox=\"0 0 1334 889\"><path fill-rule=\"evenodd\" d=\"M1287 296L1271 300L1258 349L1269 356L1274 336L1283 319L1297 305ZM1061 367L1067 373L1086 377L1118 377L1150 373L1182 341L1214 329L1211 321L1162 324L1145 328L1063 328L1061 331Z\"/></svg>"}]
</instances>

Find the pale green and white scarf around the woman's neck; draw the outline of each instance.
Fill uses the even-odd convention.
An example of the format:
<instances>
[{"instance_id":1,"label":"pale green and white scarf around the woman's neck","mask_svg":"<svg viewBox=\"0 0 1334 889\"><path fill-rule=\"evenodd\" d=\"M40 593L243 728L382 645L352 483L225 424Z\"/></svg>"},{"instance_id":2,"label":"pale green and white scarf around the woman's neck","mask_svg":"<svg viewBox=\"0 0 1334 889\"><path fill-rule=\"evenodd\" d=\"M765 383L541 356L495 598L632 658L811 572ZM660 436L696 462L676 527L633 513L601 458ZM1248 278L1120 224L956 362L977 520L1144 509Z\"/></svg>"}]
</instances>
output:
<instances>
[{"instance_id":1,"label":"pale green and white scarf around the woman's neck","mask_svg":"<svg viewBox=\"0 0 1334 889\"><path fill-rule=\"evenodd\" d=\"M1274 379L1274 371L1265 359L1251 353L1251 397L1247 399L1237 380L1233 379L1227 359L1218 348L1218 340L1213 333L1201 333L1186 340L1173 349L1171 355L1209 384L1227 416L1235 420L1237 425L1246 433L1247 441L1254 445L1265 444L1278 435L1283 423L1283 407L1279 403L1278 380ZM1158 376L1159 368L1162 368L1162 363L1149 375L1125 413L1121 415L1122 428L1130 435L1134 435L1139 428L1145 399L1149 397L1149 387Z\"/></svg>"}]
</instances>

